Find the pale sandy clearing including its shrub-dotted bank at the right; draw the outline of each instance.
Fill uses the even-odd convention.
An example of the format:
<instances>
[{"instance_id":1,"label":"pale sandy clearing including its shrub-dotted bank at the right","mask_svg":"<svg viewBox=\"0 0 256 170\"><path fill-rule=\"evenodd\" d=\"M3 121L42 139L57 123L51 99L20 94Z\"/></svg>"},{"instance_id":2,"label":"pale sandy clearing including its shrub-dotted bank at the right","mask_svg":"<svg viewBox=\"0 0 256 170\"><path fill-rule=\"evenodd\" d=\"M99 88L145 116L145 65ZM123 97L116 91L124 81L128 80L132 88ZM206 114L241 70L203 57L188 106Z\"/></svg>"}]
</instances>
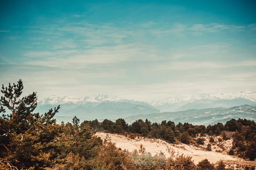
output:
<instances>
[{"instance_id":1,"label":"pale sandy clearing including its shrub-dotted bank at the right","mask_svg":"<svg viewBox=\"0 0 256 170\"><path fill-rule=\"evenodd\" d=\"M145 150L150 152L152 155L156 153L163 152L166 157L169 157L169 153L166 150L167 147L175 150L176 153L184 154L186 156L192 156L192 159L197 164L199 161L203 159L208 159L211 163L216 163L217 161L223 160L225 162L243 162L241 159L228 155L229 148L232 146L232 141L227 140L225 142L217 142L218 139L215 138L215 143L212 145L212 151L205 150L206 145L209 143L209 138L204 137L206 139L205 144L199 147L187 144L169 144L160 139L129 139L128 137L110 134L110 133L96 133L96 136L105 139L106 135L111 137L111 141L116 143L116 147L122 148L122 150L139 150L140 144L143 144ZM233 164L233 163L232 163Z\"/></svg>"}]
</instances>

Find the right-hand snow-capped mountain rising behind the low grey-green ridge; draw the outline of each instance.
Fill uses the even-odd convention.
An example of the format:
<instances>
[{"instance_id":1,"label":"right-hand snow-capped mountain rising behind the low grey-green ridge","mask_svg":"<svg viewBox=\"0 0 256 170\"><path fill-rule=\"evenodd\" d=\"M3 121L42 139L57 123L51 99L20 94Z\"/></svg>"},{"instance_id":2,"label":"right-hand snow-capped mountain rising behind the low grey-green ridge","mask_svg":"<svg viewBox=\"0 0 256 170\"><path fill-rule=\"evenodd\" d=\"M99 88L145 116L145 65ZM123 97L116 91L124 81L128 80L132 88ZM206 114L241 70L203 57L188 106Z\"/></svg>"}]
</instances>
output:
<instances>
[{"instance_id":1,"label":"right-hand snow-capped mountain rising behind the low grey-green ridge","mask_svg":"<svg viewBox=\"0 0 256 170\"><path fill-rule=\"evenodd\" d=\"M161 111L184 111L187 109L202 109L202 108L230 108L239 105L256 105L255 91L241 91L230 94L206 94L201 93L185 99L175 97L164 100L153 100L149 102L152 106Z\"/></svg>"}]
</instances>

